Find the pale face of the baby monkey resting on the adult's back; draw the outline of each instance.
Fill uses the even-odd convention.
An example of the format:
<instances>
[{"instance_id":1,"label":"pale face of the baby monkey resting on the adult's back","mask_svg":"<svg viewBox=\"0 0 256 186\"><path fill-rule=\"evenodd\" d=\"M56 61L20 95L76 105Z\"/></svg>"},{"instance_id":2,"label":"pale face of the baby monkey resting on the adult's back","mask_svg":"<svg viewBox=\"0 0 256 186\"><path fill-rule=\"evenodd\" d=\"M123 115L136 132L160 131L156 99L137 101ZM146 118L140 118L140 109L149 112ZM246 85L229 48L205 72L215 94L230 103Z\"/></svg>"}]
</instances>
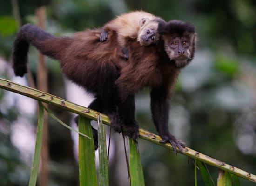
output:
<instances>
[{"instance_id":1,"label":"pale face of the baby monkey resting on the adult's back","mask_svg":"<svg viewBox=\"0 0 256 186\"><path fill-rule=\"evenodd\" d=\"M160 34L158 33L157 28L158 23L154 20L145 21L137 38L142 46L155 44L159 40Z\"/></svg>"}]
</instances>

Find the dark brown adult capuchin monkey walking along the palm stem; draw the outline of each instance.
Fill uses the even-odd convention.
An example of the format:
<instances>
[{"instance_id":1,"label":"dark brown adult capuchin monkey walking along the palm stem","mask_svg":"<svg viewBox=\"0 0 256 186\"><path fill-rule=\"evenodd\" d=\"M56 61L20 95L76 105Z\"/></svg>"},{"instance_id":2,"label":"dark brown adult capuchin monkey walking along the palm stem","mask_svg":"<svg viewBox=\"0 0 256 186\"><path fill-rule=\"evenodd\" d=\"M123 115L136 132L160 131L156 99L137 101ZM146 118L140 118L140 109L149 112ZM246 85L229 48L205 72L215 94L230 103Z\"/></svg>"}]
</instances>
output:
<instances>
[{"instance_id":1,"label":"dark brown adult capuchin monkey walking along the palm stem","mask_svg":"<svg viewBox=\"0 0 256 186\"><path fill-rule=\"evenodd\" d=\"M129 52L123 58L115 31L105 42L99 40L101 29L78 32L72 37L55 37L34 25L24 25L13 45L15 75L27 73L29 44L42 54L60 61L68 79L82 86L96 99L89 108L106 113L116 131L136 139L134 94L143 87L151 88L151 111L154 124L163 143L170 142L176 152L184 144L168 130L170 94L180 69L195 52L195 28L182 21L168 23L158 20L158 32L163 36L155 45L141 46L134 38L125 38Z\"/></svg>"}]
</instances>

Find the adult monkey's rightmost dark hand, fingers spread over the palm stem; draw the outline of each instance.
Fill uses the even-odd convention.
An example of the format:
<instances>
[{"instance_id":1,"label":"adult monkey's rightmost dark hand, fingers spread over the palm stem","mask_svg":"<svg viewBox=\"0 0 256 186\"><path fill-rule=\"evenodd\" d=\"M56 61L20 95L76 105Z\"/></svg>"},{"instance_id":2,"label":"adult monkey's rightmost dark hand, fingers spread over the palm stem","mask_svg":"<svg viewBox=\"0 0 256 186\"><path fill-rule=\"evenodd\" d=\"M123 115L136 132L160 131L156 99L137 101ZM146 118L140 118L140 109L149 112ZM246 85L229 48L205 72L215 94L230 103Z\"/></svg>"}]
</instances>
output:
<instances>
[{"instance_id":1,"label":"adult monkey's rightmost dark hand, fingers spread over the palm stem","mask_svg":"<svg viewBox=\"0 0 256 186\"><path fill-rule=\"evenodd\" d=\"M173 147L173 151L176 154L177 149L180 153L182 153L182 149L185 148L185 143L182 141L177 140L172 134L167 134L167 135L161 135L162 140L160 143L170 143Z\"/></svg>"}]
</instances>

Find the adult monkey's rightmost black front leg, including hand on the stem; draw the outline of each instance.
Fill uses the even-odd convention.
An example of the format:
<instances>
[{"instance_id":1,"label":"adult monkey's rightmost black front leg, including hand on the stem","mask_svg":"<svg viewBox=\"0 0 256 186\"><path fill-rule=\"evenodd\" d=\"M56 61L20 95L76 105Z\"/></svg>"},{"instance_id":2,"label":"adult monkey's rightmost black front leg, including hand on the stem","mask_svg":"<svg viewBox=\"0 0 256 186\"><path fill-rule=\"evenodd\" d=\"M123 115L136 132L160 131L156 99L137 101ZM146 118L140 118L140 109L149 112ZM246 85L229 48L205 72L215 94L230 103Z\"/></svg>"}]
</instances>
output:
<instances>
[{"instance_id":1,"label":"adult monkey's rightmost black front leg, including hand on the stem","mask_svg":"<svg viewBox=\"0 0 256 186\"><path fill-rule=\"evenodd\" d=\"M153 89L150 96L152 118L155 127L162 138L160 142L170 142L175 153L177 153L177 148L180 152L182 152L182 147L185 148L185 144L177 140L168 129L169 99L166 88Z\"/></svg>"}]
</instances>

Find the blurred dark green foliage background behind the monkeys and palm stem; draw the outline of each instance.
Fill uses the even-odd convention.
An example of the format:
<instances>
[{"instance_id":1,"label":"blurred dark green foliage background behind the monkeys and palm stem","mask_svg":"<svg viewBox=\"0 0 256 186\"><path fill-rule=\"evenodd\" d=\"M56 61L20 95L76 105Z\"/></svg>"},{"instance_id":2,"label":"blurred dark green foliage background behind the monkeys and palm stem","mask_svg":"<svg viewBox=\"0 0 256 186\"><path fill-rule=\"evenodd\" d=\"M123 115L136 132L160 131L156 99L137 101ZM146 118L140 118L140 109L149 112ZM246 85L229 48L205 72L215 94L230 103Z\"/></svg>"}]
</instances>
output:
<instances>
[{"instance_id":1,"label":"blurred dark green foliage background behind the monkeys and palm stem","mask_svg":"<svg viewBox=\"0 0 256 186\"><path fill-rule=\"evenodd\" d=\"M7 79L13 77L7 69L10 69L8 61L18 31L14 18L18 12L14 11L12 2L15 1L0 1L0 77ZM35 9L46 6L46 30L58 36L101 27L116 15L141 9L166 21L177 19L194 24L199 37L197 52L177 81L171 101L170 130L187 146L256 173L255 0L26 0L18 3L22 24L36 24ZM34 76L36 58L35 50L31 50L29 59ZM65 97L58 62L48 59L48 68L49 92ZM26 149L22 152L15 146L13 138L22 141L23 136L14 133L13 127L27 121L20 120L24 113L18 109L19 101L10 100L9 94L0 90L0 185L26 186L32 156ZM142 128L156 132L149 102L148 90L136 96L136 118ZM54 109L62 120L69 122L67 113ZM36 115L36 112L25 114L35 124ZM49 123L49 185L78 185L71 135L54 121ZM26 125L22 130L35 132L30 127ZM187 157L143 140L139 140L139 147L147 186L193 185L192 160L188 163ZM110 163L111 186L119 186L123 181L123 175L120 176L123 172L116 171L118 156L114 155ZM213 167L209 170L216 180L218 170ZM203 185L202 178L198 176L198 179L199 185ZM243 186L255 185L245 179L241 182Z\"/></svg>"}]
</instances>

